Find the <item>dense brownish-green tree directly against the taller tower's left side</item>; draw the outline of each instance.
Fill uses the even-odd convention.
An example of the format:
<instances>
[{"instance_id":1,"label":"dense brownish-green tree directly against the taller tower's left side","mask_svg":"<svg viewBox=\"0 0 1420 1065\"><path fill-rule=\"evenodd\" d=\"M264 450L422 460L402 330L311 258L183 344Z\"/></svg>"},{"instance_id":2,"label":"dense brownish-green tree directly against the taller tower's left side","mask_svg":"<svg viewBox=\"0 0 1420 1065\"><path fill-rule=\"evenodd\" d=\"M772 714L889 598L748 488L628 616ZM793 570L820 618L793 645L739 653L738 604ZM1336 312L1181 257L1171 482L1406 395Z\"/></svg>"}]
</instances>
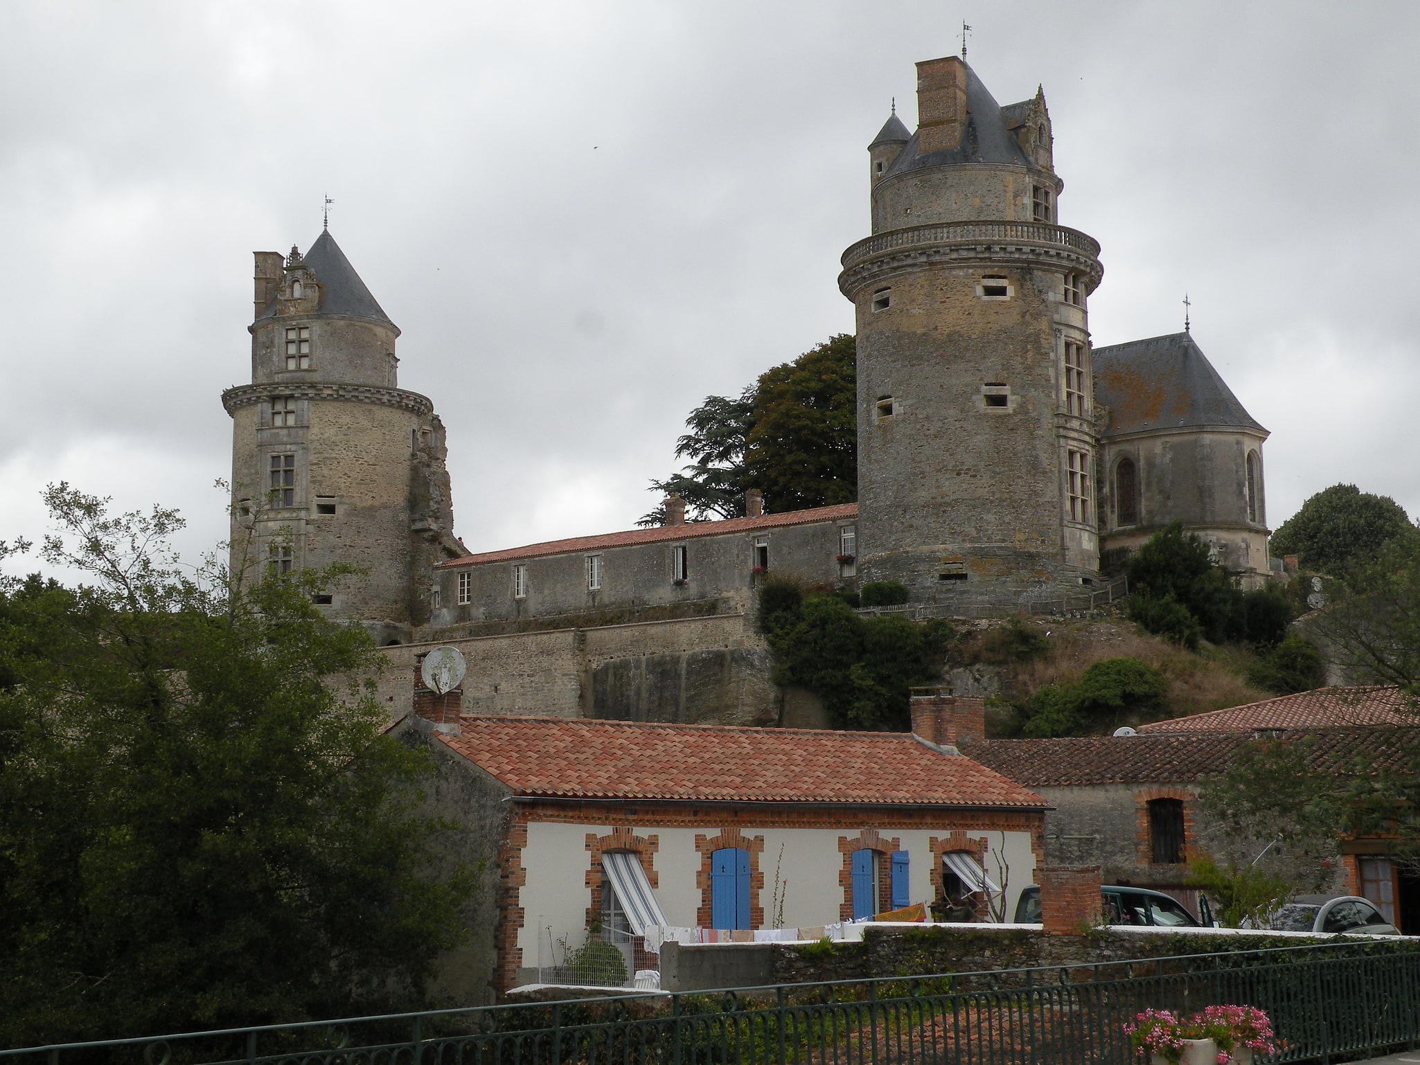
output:
<instances>
[{"instance_id":1,"label":"dense brownish-green tree directly against the taller tower's left side","mask_svg":"<svg viewBox=\"0 0 1420 1065\"><path fill-rule=\"evenodd\" d=\"M846 334L760 376L744 466L771 513L858 498L856 379Z\"/></svg>"}]
</instances>

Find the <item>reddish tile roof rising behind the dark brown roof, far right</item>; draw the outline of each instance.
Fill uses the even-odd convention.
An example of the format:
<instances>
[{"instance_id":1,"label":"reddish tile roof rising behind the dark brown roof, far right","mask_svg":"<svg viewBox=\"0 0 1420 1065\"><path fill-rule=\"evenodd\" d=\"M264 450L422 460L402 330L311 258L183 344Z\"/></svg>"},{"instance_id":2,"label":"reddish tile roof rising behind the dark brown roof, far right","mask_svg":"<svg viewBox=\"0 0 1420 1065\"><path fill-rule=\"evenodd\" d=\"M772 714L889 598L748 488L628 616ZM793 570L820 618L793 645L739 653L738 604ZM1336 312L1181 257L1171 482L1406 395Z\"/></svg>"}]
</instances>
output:
<instances>
[{"instance_id":1,"label":"reddish tile roof rising behind the dark brown roof, far right","mask_svg":"<svg viewBox=\"0 0 1420 1065\"><path fill-rule=\"evenodd\" d=\"M1420 700L1402 694L1394 686L1319 687L1227 710L1153 721L1140 726L1139 731L1157 736L1375 724L1420 724Z\"/></svg>"}]
</instances>

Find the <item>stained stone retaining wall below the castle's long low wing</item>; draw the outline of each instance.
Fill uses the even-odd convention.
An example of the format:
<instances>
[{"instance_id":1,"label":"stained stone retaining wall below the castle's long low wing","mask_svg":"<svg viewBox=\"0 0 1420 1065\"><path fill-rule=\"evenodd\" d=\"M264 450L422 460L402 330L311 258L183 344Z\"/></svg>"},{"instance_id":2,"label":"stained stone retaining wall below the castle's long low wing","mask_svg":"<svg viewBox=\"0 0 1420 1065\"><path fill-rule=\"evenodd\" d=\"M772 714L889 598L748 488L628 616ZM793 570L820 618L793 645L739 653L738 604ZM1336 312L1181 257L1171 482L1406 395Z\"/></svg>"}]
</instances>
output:
<instances>
[{"instance_id":1,"label":"stained stone retaining wall below the castle's long low wing","mask_svg":"<svg viewBox=\"0 0 1420 1065\"><path fill-rule=\"evenodd\" d=\"M775 723L772 662L747 613L598 628L464 636L381 648L378 699L390 719L413 709L416 662L463 652L466 714Z\"/></svg>"}]
</instances>

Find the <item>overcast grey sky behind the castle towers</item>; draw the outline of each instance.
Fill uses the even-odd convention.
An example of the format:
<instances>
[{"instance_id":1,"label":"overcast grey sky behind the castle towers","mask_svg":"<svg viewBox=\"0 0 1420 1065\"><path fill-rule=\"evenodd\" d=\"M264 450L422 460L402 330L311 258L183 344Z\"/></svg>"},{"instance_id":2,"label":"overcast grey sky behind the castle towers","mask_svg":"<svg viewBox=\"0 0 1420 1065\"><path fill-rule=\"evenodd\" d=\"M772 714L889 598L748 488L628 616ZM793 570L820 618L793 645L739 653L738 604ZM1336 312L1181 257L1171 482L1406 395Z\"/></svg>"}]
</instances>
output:
<instances>
[{"instance_id":1,"label":"overcast grey sky behind the castle towers","mask_svg":"<svg viewBox=\"0 0 1420 1065\"><path fill-rule=\"evenodd\" d=\"M868 141L963 18L997 99L1045 88L1095 342L1187 291L1272 432L1274 525L1336 481L1420 513L1410 0L11 0L0 540L60 479L220 540L251 251L307 247L325 193L469 547L629 527L692 406L852 329Z\"/></svg>"}]
</instances>

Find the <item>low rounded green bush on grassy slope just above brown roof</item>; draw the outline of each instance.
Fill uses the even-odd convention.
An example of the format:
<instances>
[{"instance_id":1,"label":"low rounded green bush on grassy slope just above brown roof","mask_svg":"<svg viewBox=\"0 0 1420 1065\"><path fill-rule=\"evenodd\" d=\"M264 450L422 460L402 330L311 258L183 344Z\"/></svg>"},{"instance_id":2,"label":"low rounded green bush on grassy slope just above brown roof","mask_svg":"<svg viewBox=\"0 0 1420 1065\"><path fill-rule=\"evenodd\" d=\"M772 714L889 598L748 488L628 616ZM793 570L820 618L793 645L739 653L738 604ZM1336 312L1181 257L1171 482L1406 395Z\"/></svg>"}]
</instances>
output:
<instances>
[{"instance_id":1,"label":"low rounded green bush on grassy slope just above brown roof","mask_svg":"<svg viewBox=\"0 0 1420 1065\"><path fill-rule=\"evenodd\" d=\"M1139 659L1096 662L1074 684L1047 684L1025 704L1022 736L1089 736L1123 724L1123 716L1152 710L1169 680Z\"/></svg>"}]
</instances>

